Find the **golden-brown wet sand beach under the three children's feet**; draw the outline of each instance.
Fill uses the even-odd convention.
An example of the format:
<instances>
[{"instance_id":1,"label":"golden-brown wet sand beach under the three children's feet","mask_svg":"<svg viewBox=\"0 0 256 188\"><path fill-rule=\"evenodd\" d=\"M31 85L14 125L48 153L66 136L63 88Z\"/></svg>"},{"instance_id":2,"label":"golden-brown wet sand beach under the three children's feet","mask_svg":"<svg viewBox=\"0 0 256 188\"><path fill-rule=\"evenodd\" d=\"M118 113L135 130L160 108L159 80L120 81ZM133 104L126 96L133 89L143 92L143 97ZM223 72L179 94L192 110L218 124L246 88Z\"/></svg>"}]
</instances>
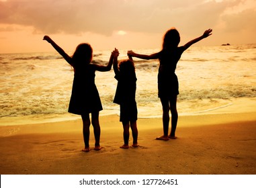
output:
<instances>
[{"instance_id":1,"label":"golden-brown wet sand beach under the three children's feet","mask_svg":"<svg viewBox=\"0 0 256 188\"><path fill-rule=\"evenodd\" d=\"M256 174L256 111L182 115L177 140L155 140L161 118L138 119L140 147L124 150L118 115L99 118L100 151L83 148L81 120L0 126L0 173L18 175ZM130 138L130 145L132 138Z\"/></svg>"}]
</instances>

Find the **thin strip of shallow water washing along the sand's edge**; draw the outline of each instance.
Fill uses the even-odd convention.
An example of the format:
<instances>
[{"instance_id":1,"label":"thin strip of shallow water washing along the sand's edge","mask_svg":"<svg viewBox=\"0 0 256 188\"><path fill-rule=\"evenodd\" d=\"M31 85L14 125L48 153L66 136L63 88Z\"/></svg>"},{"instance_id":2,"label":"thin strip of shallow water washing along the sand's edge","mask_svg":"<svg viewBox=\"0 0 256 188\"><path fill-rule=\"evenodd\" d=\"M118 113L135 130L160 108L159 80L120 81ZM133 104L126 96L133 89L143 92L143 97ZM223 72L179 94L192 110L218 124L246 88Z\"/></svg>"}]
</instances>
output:
<instances>
[{"instance_id":1,"label":"thin strip of shallow water washing along the sand's edge","mask_svg":"<svg viewBox=\"0 0 256 188\"><path fill-rule=\"evenodd\" d=\"M211 101L214 101L210 99ZM224 101L224 102L223 102ZM222 113L251 113L255 111L256 107L256 97L243 97L243 98L233 98L223 100L220 105L220 102L217 103L216 106L209 105L208 100L191 100L191 101L178 101L177 108L179 117L181 116L194 116L194 115L210 115L210 114L222 114ZM195 109L194 112L187 111L183 112L187 107L187 103L201 103L202 109ZM138 104L139 105L139 104ZM159 101L159 105L161 105ZM210 107L209 107L210 106ZM118 105L117 105L118 107ZM153 118L161 118L161 109L155 109L155 113L157 115L144 115L144 108L138 108L138 119L153 119ZM184 109L183 109L184 108ZM103 109L100 111L99 117L105 117L110 115L119 115L119 110L112 109ZM1 126L20 126L20 125L30 125L30 124L46 124L53 122L66 122L81 119L80 115L75 115L72 113L62 113L62 114L35 114L35 115L24 115L24 116L9 116L9 117L1 117L0 118L0 127Z\"/></svg>"}]
</instances>

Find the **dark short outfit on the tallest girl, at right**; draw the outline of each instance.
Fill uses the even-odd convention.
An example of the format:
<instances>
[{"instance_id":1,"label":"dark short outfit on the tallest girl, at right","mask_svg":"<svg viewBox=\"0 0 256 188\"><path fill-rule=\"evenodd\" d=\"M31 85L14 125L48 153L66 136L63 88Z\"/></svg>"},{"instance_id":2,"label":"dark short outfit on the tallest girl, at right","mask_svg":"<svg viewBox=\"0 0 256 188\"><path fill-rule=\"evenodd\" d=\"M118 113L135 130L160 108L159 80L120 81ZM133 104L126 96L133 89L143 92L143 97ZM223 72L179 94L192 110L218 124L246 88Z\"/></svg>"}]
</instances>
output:
<instances>
[{"instance_id":1,"label":"dark short outfit on the tallest girl, at right","mask_svg":"<svg viewBox=\"0 0 256 188\"><path fill-rule=\"evenodd\" d=\"M179 82L175 75L175 69L184 50L185 48L181 46L159 52L158 95L160 98L169 98L173 95L179 95Z\"/></svg>"}]
</instances>

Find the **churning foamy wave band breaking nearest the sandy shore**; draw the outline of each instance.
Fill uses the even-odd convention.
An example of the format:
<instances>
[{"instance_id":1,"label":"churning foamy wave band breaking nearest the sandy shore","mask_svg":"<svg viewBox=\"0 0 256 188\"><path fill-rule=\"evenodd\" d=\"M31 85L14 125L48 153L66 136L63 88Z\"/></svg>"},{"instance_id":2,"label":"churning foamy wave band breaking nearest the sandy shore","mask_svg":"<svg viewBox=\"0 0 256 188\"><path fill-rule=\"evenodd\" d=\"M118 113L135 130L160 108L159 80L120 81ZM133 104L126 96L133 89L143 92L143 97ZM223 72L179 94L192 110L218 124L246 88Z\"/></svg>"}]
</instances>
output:
<instances>
[{"instance_id":1,"label":"churning foamy wave band breaking nearest the sandy shore","mask_svg":"<svg viewBox=\"0 0 256 188\"><path fill-rule=\"evenodd\" d=\"M99 89L101 95L101 102L104 109L118 109L113 103L114 90L103 93ZM29 89L23 91L23 96L17 97L12 92L6 92L2 97L5 101L1 101L0 117L5 116L20 116L20 115L34 115L34 114L62 114L67 113L69 105L69 93L60 93L60 91L44 91L42 96L31 97ZM52 93L52 94L51 94ZM241 97L256 97L256 87L221 87L218 89L184 89L180 91L178 96L179 102L195 101L195 100L221 100L226 99L230 101L233 98ZM24 99L26 100L26 103ZM17 101L18 100L18 101ZM137 89L136 101L138 109L145 109L147 111L158 110L161 111L159 98L157 97L157 90ZM157 105L156 105L157 104ZM158 106L156 108L156 106ZM194 109L200 107L200 103L194 103ZM207 108L205 109L207 110ZM194 111L194 110L193 110ZM182 111L181 111L182 112Z\"/></svg>"}]
</instances>

